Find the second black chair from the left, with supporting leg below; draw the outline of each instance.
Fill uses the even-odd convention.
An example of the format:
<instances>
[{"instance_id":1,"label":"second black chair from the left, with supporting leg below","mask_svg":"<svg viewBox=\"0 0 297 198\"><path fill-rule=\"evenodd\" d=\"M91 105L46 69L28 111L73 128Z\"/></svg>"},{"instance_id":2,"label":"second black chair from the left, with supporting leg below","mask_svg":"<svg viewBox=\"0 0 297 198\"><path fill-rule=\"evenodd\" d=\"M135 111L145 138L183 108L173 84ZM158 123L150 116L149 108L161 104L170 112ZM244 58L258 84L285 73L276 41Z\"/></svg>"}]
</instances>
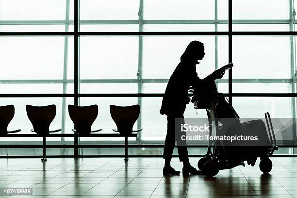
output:
<instances>
[{"instance_id":1,"label":"second black chair from the left, with supporting leg below","mask_svg":"<svg viewBox=\"0 0 297 198\"><path fill-rule=\"evenodd\" d=\"M46 158L46 136L52 132L60 132L61 129L49 131L49 125L56 116L56 105L48 106L32 106L26 105L26 111L29 120L33 125L31 132L35 132L38 135L43 137L43 147L42 147L42 159L41 161L45 162L48 159Z\"/></svg>"}]
</instances>

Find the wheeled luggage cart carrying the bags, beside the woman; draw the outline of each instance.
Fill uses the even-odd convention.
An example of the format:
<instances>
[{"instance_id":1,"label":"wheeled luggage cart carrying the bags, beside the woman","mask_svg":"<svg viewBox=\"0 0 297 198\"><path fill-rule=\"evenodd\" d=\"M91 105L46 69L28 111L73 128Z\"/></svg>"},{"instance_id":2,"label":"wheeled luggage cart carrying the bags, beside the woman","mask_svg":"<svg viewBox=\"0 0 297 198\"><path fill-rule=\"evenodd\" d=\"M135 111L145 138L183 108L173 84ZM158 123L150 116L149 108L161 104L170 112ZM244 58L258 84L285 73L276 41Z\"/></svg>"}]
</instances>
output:
<instances>
[{"instance_id":1,"label":"wheeled luggage cart carrying the bags, beside the woman","mask_svg":"<svg viewBox=\"0 0 297 198\"><path fill-rule=\"evenodd\" d=\"M215 111L215 102L211 101L210 103L205 102L194 102L195 109L206 109L208 116L209 126L210 126L210 136L213 135L213 131L218 132L220 127L218 126L218 121L216 119ZM240 157L236 156L235 160L231 156L226 154L224 145L221 145L219 141L209 141L207 153L198 161L198 168L202 171L203 174L208 176L215 176L219 170L231 169L238 165L245 166L245 161L248 165L254 166L257 158L260 157L260 170L263 173L268 173L272 169L272 162L269 159L269 156L272 156L275 150L278 150L275 134L273 131L273 126L269 113L265 113L265 120L269 134L270 145L263 147L261 149L256 149L249 147L248 149L254 149L257 154L249 157ZM212 149L213 148L213 149ZM238 148L238 147L236 147Z\"/></svg>"}]
</instances>

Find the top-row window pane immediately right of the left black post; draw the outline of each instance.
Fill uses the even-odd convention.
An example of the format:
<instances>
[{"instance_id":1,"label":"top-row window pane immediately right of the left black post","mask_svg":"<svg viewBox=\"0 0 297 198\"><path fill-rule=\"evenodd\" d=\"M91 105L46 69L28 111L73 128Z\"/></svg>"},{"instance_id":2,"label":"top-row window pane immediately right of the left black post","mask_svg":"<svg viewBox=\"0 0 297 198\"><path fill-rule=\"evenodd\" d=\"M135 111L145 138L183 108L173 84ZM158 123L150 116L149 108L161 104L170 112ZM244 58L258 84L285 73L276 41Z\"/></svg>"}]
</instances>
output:
<instances>
[{"instance_id":1,"label":"top-row window pane immediately right of the left black post","mask_svg":"<svg viewBox=\"0 0 297 198\"><path fill-rule=\"evenodd\" d=\"M80 0L80 20L137 20L139 0Z\"/></svg>"}]
</instances>

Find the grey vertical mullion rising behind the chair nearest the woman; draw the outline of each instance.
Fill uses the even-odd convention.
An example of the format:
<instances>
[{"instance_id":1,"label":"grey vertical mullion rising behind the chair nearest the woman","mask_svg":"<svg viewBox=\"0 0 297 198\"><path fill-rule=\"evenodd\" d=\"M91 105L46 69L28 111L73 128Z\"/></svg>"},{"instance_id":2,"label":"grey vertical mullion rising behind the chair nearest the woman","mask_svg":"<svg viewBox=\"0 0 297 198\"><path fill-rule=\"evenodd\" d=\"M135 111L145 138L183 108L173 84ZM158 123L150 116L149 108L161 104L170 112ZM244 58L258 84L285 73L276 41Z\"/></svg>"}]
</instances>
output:
<instances>
[{"instance_id":1,"label":"grey vertical mullion rising behind the chair nearest the woman","mask_svg":"<svg viewBox=\"0 0 297 198\"><path fill-rule=\"evenodd\" d=\"M139 0L139 32L143 31L143 0ZM143 40L142 36L138 37L138 71L137 71L137 93L142 93L142 48ZM142 98L137 98L137 103L142 107ZM139 118L137 120L137 128L141 129L142 108L140 109ZM137 143L141 144L141 132L137 133Z\"/></svg>"}]
</instances>

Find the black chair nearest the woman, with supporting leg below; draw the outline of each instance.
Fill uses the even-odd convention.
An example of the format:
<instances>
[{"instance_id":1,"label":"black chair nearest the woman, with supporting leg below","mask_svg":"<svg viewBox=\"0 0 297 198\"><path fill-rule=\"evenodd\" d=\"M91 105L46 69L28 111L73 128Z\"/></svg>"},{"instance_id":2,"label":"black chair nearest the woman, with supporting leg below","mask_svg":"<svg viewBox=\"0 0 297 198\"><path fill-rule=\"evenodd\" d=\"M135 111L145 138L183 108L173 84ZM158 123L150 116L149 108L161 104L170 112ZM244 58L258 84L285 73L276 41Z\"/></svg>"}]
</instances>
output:
<instances>
[{"instance_id":1,"label":"black chair nearest the woman, with supporting leg below","mask_svg":"<svg viewBox=\"0 0 297 198\"><path fill-rule=\"evenodd\" d=\"M117 129L114 132L119 132L125 136L125 161L128 161L128 136L133 132L140 132L142 129L133 131L133 125L139 117L140 106L138 104L132 106L115 106L110 105L110 115L115 121Z\"/></svg>"}]
</instances>

